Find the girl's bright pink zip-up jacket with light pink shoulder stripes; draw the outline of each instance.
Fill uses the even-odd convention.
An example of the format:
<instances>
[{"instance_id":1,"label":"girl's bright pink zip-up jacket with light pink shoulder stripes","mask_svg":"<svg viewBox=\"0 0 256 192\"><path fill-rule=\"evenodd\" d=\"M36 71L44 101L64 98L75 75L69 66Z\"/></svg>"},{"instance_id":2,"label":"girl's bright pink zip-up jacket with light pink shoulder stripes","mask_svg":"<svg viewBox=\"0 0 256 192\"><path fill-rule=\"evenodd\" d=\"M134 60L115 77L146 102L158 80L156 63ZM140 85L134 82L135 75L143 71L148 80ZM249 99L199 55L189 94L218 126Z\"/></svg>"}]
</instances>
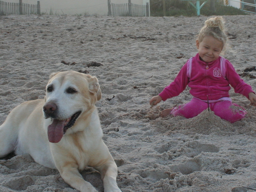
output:
<instances>
[{"instance_id":1,"label":"girl's bright pink zip-up jacket with light pink shoulder stripes","mask_svg":"<svg viewBox=\"0 0 256 192\"><path fill-rule=\"evenodd\" d=\"M215 61L206 63L200 60L197 53L195 57L187 61L174 81L165 87L159 95L165 101L178 96L188 85L191 88L189 92L192 96L207 100L208 95L209 100L218 100L222 97L229 97L229 84L236 93L240 93L248 99L248 94L253 92L252 87L240 78L228 60L219 57Z\"/></svg>"}]
</instances>

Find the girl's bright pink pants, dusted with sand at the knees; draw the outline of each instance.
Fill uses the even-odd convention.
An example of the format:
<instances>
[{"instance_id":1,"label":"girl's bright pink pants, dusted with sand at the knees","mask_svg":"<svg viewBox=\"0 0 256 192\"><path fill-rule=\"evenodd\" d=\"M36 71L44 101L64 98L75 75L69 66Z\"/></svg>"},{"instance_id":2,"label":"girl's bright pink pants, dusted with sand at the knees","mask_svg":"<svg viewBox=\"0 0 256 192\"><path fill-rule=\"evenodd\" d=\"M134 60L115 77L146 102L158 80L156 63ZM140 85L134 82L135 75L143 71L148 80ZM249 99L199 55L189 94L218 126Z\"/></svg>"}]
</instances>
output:
<instances>
[{"instance_id":1,"label":"girl's bright pink pants, dusted with sand at the knees","mask_svg":"<svg viewBox=\"0 0 256 192\"><path fill-rule=\"evenodd\" d=\"M186 118L192 118L203 112L208 108L208 104L197 98L193 98L186 104L179 105L172 109L173 116L183 116ZM232 103L229 100L221 100L215 103L209 103L209 108L215 115L221 119L225 119L230 123L240 121L247 114L246 110L236 103Z\"/></svg>"}]
</instances>

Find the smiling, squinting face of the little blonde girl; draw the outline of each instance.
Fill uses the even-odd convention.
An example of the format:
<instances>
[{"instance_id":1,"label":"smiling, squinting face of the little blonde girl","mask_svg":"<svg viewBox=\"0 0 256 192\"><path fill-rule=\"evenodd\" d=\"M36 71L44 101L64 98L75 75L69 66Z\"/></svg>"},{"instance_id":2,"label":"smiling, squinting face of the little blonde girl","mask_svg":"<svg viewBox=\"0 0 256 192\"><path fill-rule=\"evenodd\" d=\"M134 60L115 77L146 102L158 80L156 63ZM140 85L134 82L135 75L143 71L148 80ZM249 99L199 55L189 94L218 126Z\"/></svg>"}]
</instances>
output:
<instances>
[{"instance_id":1,"label":"smiling, squinting face of the little blonde girl","mask_svg":"<svg viewBox=\"0 0 256 192\"><path fill-rule=\"evenodd\" d=\"M205 36L201 42L196 40L196 48L204 62L217 60L223 48L223 43L213 36Z\"/></svg>"}]
</instances>

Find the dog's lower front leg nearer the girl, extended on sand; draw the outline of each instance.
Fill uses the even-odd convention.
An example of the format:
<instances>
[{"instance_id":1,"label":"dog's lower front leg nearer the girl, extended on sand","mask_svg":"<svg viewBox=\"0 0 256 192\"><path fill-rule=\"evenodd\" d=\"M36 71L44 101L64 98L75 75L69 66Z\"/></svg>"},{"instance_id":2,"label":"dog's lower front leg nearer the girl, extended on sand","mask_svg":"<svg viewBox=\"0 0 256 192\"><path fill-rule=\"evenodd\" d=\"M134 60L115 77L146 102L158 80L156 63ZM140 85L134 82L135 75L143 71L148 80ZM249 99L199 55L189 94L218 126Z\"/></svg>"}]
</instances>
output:
<instances>
[{"instance_id":1,"label":"dog's lower front leg nearer the girl, extended on sand","mask_svg":"<svg viewBox=\"0 0 256 192\"><path fill-rule=\"evenodd\" d=\"M117 166L113 159L109 160L105 165L97 167L103 180L104 192L122 192L116 183Z\"/></svg>"}]
</instances>

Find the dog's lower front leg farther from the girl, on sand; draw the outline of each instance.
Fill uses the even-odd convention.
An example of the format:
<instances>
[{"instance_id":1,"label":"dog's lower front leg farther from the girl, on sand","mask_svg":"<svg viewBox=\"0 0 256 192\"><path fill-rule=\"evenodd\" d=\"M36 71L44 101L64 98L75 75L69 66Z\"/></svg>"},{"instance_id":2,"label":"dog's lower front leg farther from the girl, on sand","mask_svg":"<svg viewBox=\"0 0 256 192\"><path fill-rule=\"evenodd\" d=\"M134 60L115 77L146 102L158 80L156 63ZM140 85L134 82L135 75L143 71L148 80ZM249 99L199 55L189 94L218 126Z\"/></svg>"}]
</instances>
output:
<instances>
[{"instance_id":1,"label":"dog's lower front leg farther from the girl, on sand","mask_svg":"<svg viewBox=\"0 0 256 192\"><path fill-rule=\"evenodd\" d=\"M62 168L60 175L66 183L81 192L98 192L91 183L83 179L82 175L75 167Z\"/></svg>"}]
</instances>

